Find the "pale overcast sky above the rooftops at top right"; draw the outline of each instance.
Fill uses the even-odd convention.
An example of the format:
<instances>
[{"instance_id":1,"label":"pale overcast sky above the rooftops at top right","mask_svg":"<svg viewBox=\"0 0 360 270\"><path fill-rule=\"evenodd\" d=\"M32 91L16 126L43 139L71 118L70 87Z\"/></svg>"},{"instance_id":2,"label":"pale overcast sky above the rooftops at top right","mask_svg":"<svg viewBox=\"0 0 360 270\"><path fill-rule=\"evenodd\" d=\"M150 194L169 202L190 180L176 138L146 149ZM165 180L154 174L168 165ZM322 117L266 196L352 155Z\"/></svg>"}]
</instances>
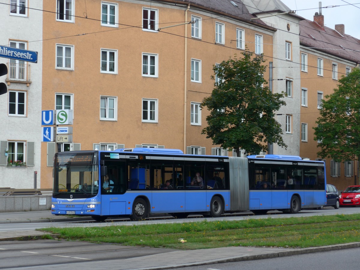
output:
<instances>
[{"instance_id":1,"label":"pale overcast sky above the rooftops at top right","mask_svg":"<svg viewBox=\"0 0 360 270\"><path fill-rule=\"evenodd\" d=\"M296 10L296 14L314 21L315 12L319 12L319 2L323 8L325 26L335 29L335 24L345 25L345 34L360 39L360 0L281 0L291 10ZM356 5L349 5L349 4ZM330 8L330 6L336 6Z\"/></svg>"}]
</instances>

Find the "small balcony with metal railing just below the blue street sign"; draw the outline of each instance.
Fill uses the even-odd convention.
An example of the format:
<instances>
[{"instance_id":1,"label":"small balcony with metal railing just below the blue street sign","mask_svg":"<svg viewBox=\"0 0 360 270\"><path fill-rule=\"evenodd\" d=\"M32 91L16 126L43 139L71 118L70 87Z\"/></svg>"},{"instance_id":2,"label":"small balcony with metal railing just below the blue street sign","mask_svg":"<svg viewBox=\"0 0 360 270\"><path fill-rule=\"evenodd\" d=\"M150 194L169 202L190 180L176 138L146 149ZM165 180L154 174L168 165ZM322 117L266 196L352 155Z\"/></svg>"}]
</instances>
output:
<instances>
[{"instance_id":1,"label":"small balcony with metal railing just below the blue street sign","mask_svg":"<svg viewBox=\"0 0 360 270\"><path fill-rule=\"evenodd\" d=\"M25 64L24 61L6 63L8 66L8 77L5 81L10 85L11 82L25 83L27 86L31 84L30 79L30 64Z\"/></svg>"}]
</instances>

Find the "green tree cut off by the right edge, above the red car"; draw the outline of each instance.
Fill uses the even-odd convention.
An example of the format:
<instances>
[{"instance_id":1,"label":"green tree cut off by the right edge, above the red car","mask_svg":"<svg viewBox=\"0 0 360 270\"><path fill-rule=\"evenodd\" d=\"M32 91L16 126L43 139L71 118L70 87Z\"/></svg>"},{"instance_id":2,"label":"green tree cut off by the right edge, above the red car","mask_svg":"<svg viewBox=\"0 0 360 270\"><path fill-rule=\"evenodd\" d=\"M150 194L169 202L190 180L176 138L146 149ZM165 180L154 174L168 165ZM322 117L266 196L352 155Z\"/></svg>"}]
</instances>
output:
<instances>
[{"instance_id":1,"label":"green tree cut off by the right edge, above the red car","mask_svg":"<svg viewBox=\"0 0 360 270\"><path fill-rule=\"evenodd\" d=\"M360 68L343 76L321 106L314 127L314 139L321 141L318 156L336 162L354 160L360 155Z\"/></svg>"}]
</instances>

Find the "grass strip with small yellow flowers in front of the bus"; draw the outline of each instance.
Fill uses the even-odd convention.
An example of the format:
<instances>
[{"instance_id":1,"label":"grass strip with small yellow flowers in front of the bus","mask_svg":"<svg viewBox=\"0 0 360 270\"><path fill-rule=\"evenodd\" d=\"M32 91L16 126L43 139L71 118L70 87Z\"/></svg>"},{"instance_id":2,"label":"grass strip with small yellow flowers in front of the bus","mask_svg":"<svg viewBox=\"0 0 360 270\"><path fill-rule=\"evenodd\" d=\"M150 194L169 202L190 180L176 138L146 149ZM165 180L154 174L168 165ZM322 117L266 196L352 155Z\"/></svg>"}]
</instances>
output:
<instances>
[{"instance_id":1,"label":"grass strip with small yellow flowers in front of the bus","mask_svg":"<svg viewBox=\"0 0 360 270\"><path fill-rule=\"evenodd\" d=\"M62 239L175 249L231 246L318 247L360 242L360 214L44 228ZM184 241L181 242L181 239ZM185 242L186 241L186 242Z\"/></svg>"}]
</instances>

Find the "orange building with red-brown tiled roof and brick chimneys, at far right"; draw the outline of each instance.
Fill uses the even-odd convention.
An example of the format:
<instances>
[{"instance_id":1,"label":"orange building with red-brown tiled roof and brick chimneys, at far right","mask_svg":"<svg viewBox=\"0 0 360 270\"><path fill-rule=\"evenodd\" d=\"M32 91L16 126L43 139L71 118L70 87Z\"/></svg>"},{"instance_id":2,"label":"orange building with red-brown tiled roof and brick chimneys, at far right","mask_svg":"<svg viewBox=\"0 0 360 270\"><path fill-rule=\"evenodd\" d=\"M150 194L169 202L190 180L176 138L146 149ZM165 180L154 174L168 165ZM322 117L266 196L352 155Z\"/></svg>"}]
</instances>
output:
<instances>
[{"instance_id":1,"label":"orange building with red-brown tiled roof and brick chimneys, at far right","mask_svg":"<svg viewBox=\"0 0 360 270\"><path fill-rule=\"evenodd\" d=\"M300 22L301 54L301 142L300 156L318 159L318 141L314 140L315 121L320 116L321 99L333 93L338 79L359 66L360 40L345 34L345 26L335 30L324 26L324 15L315 13L314 21ZM359 163L324 159L327 181L339 190L359 184Z\"/></svg>"}]
</instances>

